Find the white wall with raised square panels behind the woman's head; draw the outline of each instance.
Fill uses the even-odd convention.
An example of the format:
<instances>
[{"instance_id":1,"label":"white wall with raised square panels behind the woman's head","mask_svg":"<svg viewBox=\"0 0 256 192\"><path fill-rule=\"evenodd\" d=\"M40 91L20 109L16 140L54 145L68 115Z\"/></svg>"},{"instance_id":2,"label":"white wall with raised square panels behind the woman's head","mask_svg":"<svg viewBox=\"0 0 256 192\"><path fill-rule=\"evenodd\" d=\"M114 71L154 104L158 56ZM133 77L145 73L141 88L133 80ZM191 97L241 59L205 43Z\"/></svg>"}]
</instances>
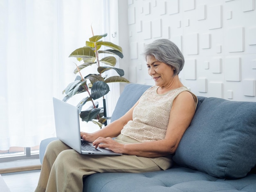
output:
<instances>
[{"instance_id":1,"label":"white wall with raised square panels behind the woman's head","mask_svg":"<svg viewBox=\"0 0 256 192\"><path fill-rule=\"evenodd\" d=\"M154 85L141 55L158 38L185 57L182 83L198 96L256 101L255 0L128 0L129 79Z\"/></svg>"}]
</instances>

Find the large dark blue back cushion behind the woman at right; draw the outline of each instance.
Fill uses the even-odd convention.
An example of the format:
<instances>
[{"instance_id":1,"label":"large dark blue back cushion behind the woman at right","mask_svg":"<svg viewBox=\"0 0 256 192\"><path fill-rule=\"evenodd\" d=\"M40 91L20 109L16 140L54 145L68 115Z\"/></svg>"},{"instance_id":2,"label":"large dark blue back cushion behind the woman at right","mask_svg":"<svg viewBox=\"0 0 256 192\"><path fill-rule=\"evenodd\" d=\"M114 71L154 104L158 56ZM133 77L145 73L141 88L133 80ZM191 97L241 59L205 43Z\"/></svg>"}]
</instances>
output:
<instances>
[{"instance_id":1,"label":"large dark blue back cushion behind the woman at right","mask_svg":"<svg viewBox=\"0 0 256 192\"><path fill-rule=\"evenodd\" d=\"M256 102L199 100L173 160L212 176L246 176L256 165Z\"/></svg>"}]
</instances>

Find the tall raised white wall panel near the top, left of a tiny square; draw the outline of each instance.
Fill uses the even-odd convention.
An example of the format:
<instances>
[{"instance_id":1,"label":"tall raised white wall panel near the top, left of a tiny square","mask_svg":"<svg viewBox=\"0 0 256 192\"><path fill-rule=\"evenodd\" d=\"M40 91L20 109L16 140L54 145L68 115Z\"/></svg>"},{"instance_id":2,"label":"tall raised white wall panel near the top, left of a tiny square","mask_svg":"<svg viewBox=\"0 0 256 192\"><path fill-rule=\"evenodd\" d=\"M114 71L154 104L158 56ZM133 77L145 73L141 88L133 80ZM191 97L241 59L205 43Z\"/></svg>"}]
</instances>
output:
<instances>
[{"instance_id":1,"label":"tall raised white wall panel near the top, left of a tiny square","mask_svg":"<svg viewBox=\"0 0 256 192\"><path fill-rule=\"evenodd\" d=\"M208 24L209 29L219 29L222 28L222 6L217 5L209 7L208 15Z\"/></svg>"}]
</instances>

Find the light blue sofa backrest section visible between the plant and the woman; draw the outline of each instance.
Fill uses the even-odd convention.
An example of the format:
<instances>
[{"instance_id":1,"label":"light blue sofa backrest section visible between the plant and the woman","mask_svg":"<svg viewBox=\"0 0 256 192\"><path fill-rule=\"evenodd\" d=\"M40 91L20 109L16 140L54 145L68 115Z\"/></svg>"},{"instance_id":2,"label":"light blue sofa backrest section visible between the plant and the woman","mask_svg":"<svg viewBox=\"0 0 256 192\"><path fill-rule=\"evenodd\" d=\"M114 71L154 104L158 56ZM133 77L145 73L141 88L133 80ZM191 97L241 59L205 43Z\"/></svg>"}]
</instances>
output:
<instances>
[{"instance_id":1,"label":"light blue sofa backrest section visible between the plant and the woman","mask_svg":"<svg viewBox=\"0 0 256 192\"><path fill-rule=\"evenodd\" d=\"M152 87L152 85L141 85L137 83L127 84L117 100L117 105L111 116L111 122L126 114L137 100L139 100L141 95L150 87Z\"/></svg>"}]
</instances>

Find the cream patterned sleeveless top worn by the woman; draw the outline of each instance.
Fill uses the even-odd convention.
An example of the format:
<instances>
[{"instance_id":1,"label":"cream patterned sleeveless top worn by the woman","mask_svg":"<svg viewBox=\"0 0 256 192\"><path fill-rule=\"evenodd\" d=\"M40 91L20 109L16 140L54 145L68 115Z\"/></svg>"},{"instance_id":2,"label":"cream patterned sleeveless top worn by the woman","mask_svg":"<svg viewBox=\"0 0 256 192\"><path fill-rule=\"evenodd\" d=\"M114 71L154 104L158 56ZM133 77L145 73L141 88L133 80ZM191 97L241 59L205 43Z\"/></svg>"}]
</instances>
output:
<instances>
[{"instance_id":1,"label":"cream patterned sleeveless top worn by the woman","mask_svg":"<svg viewBox=\"0 0 256 192\"><path fill-rule=\"evenodd\" d=\"M157 94L158 86L150 87L139 99L139 104L132 114L132 121L121 130L121 134L129 136L139 142L157 141L165 138L173 100L184 91L186 87L173 89L165 94ZM198 98L190 92L195 104Z\"/></svg>"}]
</instances>

